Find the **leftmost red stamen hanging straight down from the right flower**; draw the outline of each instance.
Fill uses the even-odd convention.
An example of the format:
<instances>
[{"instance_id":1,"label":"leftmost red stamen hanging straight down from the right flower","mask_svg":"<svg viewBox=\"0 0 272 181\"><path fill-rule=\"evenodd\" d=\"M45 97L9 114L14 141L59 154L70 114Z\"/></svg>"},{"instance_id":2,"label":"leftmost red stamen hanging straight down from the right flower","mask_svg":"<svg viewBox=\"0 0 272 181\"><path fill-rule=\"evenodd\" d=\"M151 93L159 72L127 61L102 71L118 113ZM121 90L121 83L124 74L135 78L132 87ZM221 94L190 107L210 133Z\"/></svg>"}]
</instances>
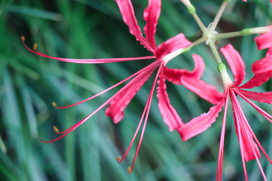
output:
<instances>
[{"instance_id":1,"label":"leftmost red stamen hanging straight down from the right flower","mask_svg":"<svg viewBox=\"0 0 272 181\"><path fill-rule=\"evenodd\" d=\"M220 181L222 179L224 140L225 140L225 129L226 129L226 118L227 118L228 102L229 102L229 88L227 89L227 95L226 95L226 98L225 98L224 116L223 116L223 122L222 122L220 146L219 146L219 153L218 153L218 164L217 164L216 180L220 180Z\"/></svg>"}]
</instances>

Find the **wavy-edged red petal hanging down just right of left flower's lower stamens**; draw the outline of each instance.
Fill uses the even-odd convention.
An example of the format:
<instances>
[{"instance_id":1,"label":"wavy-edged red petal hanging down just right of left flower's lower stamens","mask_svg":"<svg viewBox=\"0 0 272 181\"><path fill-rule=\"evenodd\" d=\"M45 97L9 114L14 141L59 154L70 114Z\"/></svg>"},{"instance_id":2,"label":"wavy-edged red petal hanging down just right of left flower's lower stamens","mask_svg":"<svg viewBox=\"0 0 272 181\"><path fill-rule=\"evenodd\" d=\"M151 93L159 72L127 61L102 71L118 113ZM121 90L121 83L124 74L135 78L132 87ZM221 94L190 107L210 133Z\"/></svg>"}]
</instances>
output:
<instances>
[{"instance_id":1,"label":"wavy-edged red petal hanging down just right of left flower's lower stamens","mask_svg":"<svg viewBox=\"0 0 272 181\"><path fill-rule=\"evenodd\" d=\"M165 83L165 78L163 75L163 69L160 74L160 80L158 80L158 85L159 85L157 87L157 98L159 100L158 106L159 106L164 122L169 127L169 130L173 131L179 128L184 123L182 122L181 118L178 116L176 110L170 104L170 100L166 92L166 83Z\"/></svg>"}]
</instances>

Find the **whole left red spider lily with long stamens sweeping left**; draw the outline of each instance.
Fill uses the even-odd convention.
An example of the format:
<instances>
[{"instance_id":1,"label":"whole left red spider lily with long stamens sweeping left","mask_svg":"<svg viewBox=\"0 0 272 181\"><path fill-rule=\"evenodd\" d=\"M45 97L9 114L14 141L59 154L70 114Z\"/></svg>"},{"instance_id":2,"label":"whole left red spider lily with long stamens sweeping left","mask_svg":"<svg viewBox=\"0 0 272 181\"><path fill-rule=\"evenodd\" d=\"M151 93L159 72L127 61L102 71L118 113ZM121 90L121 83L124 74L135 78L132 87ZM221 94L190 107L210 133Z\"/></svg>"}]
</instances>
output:
<instances>
[{"instance_id":1,"label":"whole left red spider lily with long stamens sweeping left","mask_svg":"<svg viewBox=\"0 0 272 181\"><path fill-rule=\"evenodd\" d=\"M143 115L141 117L141 120L139 122L139 125L137 127L137 130L135 131L135 134L132 138L132 141L130 145L128 146L127 151L125 152L124 156L122 158L117 157L118 162L121 162L125 156L127 155L135 137L137 136L139 129L144 121L140 141L138 144L137 151L135 153L133 162L131 167L128 167L128 172L131 172L133 169L133 165L135 162L135 159L138 155L142 139L144 136L144 131L146 128L147 124L147 119L149 115L149 110L151 106L151 100L153 97L153 93L155 90L156 82L158 80L158 77L160 76L160 81L159 87L158 87L158 99L159 99L159 107L162 112L163 118L166 122L166 124L169 126L170 130L172 131L173 129L178 128L180 125L183 124L180 118L176 118L175 120L170 119L171 116L176 116L175 110L171 107L170 101L167 97L167 93L165 91L165 83L164 83L164 76L167 79L179 79L177 76L180 76L180 79L182 80L177 80L180 81L179 84L184 84L187 86L189 89L191 89L193 92L198 93L200 92L199 87L197 88L196 82L201 83L201 85L206 86L208 91L214 92L216 96L214 98L211 98L210 93L207 93L207 95L203 96L203 94L199 94L203 99L208 100L212 104L217 104L218 100L220 100L220 93L216 91L216 89L211 86L207 85L205 82L202 80L199 80L202 72L203 72L203 60L199 58L197 55L193 55L194 61L195 61L195 69L192 72L189 72L187 70L176 70L176 69L169 69L166 68L165 65L169 60L174 58L175 56L179 55L184 51L185 48L189 47L191 45L191 42L189 42L183 34L178 34L175 37L170 38L164 43L161 43L158 47L156 46L155 42L155 32L156 32L156 26L158 23L160 11L161 11L161 1L160 0L150 0L149 5L147 9L144 11L144 20L147 22L146 26L144 27L144 33L146 34L146 37L142 36L142 32L140 27L138 26L137 20L134 15L134 10L132 7L132 4L130 0L115 0L123 21L129 28L129 32L136 37L136 40L140 41L140 43L147 48L151 53L153 53L153 56L145 56L145 57L133 57L133 58L106 58L106 59L69 59L69 58L58 58L58 57L52 57L45 55L41 53L40 51L37 50L37 44L34 44L34 51L29 49L24 41L25 38L22 36L22 42L24 46L31 52L47 57L47 58L52 58L60 61L65 61L65 62L73 62L73 63L111 63L111 62L120 62L120 61L130 61L130 60L140 60L140 59L152 59L156 58L157 60L151 63L150 65L146 66L145 68L139 70L138 72L132 74L131 76L125 78L124 80L118 82L117 84L107 88L105 91L94 95L86 100L83 100L79 103L75 103L69 106L65 107L58 107L56 106L55 103L53 103L53 106L58 109L64 109L64 108L69 108L81 103L84 103L88 100L91 100L107 91L110 89L116 87L117 85L120 85L121 83L131 79L128 83L126 83L116 94L114 94L110 99L108 99L104 104L102 104L97 110L95 110L93 113L91 113L89 116L81 120L80 122L76 123L72 127L64 130L64 131L59 131L56 127L53 127L55 132L57 134L62 134L58 138L55 138L51 141L43 141L44 143L50 143L54 142L67 134L71 133L73 130L75 130L78 126L83 124L85 121L87 121L89 118L91 118L95 113L97 113L99 110L101 110L103 107L109 104L108 108L106 109L106 115L111 117L113 119L114 123L118 123L121 121L121 119L124 117L124 112L123 110L126 108L126 106L129 104L131 99L134 97L134 95L139 91L139 89L143 86L143 84L149 79L151 74L155 71L155 69L158 69L155 80L153 82L150 95L148 97L146 106L143 111ZM172 77L176 76L176 77ZM192 82L194 82L194 84ZM218 94L217 94L218 93ZM222 98L221 98L222 99ZM145 120L144 120L145 118Z\"/></svg>"}]
</instances>

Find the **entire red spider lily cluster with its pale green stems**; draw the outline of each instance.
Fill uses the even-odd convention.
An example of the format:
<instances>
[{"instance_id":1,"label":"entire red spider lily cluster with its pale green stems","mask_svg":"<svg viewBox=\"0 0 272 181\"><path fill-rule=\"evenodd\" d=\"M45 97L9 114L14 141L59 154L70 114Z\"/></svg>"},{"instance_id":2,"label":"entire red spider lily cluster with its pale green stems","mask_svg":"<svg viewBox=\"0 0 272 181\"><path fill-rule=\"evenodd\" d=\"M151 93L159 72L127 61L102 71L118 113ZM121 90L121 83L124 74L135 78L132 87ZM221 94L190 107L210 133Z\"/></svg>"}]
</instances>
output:
<instances>
[{"instance_id":1,"label":"entire red spider lily cluster with its pale green stems","mask_svg":"<svg viewBox=\"0 0 272 181\"><path fill-rule=\"evenodd\" d=\"M243 0L246 2L246 0ZM246 91L245 89L250 89L255 86L260 86L262 83L267 81L272 76L272 26L267 27L258 27L258 28L249 28L244 29L239 32L232 33L222 33L218 34L215 32L217 24L220 20L222 13L224 12L228 2L230 0L223 1L223 4L218 11L214 21L210 24L208 28L206 28L201 20L195 13L194 7L191 5L189 0L181 0L181 2L186 6L188 12L192 15L195 22L198 24L200 30L202 31L202 37L194 42L190 42L186 39L184 34L178 34L160 45L156 45L155 41L155 33L156 27L158 24L158 19L161 13L161 0L149 0L148 7L144 11L144 20L146 21L146 25L144 27L145 37L142 35L141 28L139 27L137 20L134 15L133 6L130 0L115 0L117 3L120 13L122 15L124 23L128 26L130 34L134 35L136 40L139 41L148 51L150 51L153 55L144 56L144 57L133 57L133 58L106 58L106 59L69 59L69 58L58 58L45 55L38 51L37 44L34 45L34 50L28 48L24 41L25 38L22 36L22 42L24 46L31 52L46 57L52 58L59 61L65 62L73 62L73 63L112 63L112 62L121 62L121 61L131 61L131 60L139 60L139 59L155 59L153 63L139 70L138 72L132 74L131 76L125 78L124 80L116 83L115 85L107 88L105 91L94 95L86 100L83 100L79 103L75 103L73 105L58 107L55 103L53 106L58 109L69 108L72 106L76 106L78 104L84 103L88 100L91 100L101 94L109 91L110 89L120 85L121 83L128 81L122 88L119 89L117 93L115 93L111 98L109 98L104 104L102 104L97 110L91 113L89 116L73 125L69 129L64 131L59 131L56 127L53 127L57 134L61 134L59 137L51 140L51 141L43 141L45 143L54 142L67 134L71 133L89 118L91 118L95 113L108 105L106 109L106 115L112 118L114 123L118 123L124 117L124 109L129 104L131 99L137 94L139 89L145 84L145 82L151 77L151 75L157 69L157 73L147 99L146 106L144 108L141 120L139 122L139 126L135 131L135 134L131 140L130 145L127 148L124 156L117 157L118 162L121 162L125 156L127 155L135 137L137 136L141 125L143 125L141 138L138 143L138 148L135 153L132 165L128 167L128 172L131 172L133 169L133 165L135 159L138 155L141 142L143 140L148 115L150 111L151 101L153 98L153 94L155 92L156 84L157 86L157 98L159 100L158 106L163 117L164 122L169 127L170 131L177 130L180 134L182 141L188 140L189 138L200 134L209 128L219 116L219 113L222 111L224 106L224 117L222 124L222 132L221 132L221 141L219 148L219 157L218 157L218 168L217 168L217 179L221 180L222 178L222 165L223 165L223 150L224 150L224 136L225 136L225 125L226 125L226 113L228 108L229 98L232 104L233 110L233 119L234 125L236 129L236 134L240 143L242 162L244 167L245 178L247 180L246 173L246 165L245 160L249 161L252 159L256 159L263 175L263 178L266 180L265 174L262 170L262 167L259 163L258 158L260 158L260 151L264 153L266 158L272 164L272 161L268 157L267 153L262 148L261 144L257 140L254 135L243 111L237 100L237 97L241 97L248 104L250 104L253 108L255 108L265 119L272 123L272 116L259 108L256 104L254 104L250 100L255 100L260 103L268 103L272 104L272 92L266 93L256 93L251 91ZM270 0L272 3L272 1ZM231 71L233 72L233 81L227 73L226 66L221 60L221 56L216 48L215 40L230 38L236 36L247 36L251 34L261 34L260 36L255 38L255 42L258 50L269 48L266 56L263 59L260 59L252 64L252 72L254 76L246 83L242 84L242 81L245 77L245 65L240 56L239 52L236 51L231 44L226 45L221 48L221 52L227 60ZM224 84L224 93L220 93L217 91L214 85L207 84L205 81L201 80L202 73L205 69L205 64L203 59L196 54L192 54L192 58L195 64L195 67L192 71L188 71L187 69L174 69L168 68L167 63L173 59L174 57L189 51L192 47L200 44L206 43L211 48L212 53L215 56L215 59L218 63L218 70L221 74L223 84ZM193 118L187 123L183 123L176 110L171 106L170 100L168 98L168 94L166 92L166 83L165 80L172 82L174 84L183 85L189 91L198 95L201 99L208 101L214 106L210 108L208 113L203 113L199 117Z\"/></svg>"}]
</instances>

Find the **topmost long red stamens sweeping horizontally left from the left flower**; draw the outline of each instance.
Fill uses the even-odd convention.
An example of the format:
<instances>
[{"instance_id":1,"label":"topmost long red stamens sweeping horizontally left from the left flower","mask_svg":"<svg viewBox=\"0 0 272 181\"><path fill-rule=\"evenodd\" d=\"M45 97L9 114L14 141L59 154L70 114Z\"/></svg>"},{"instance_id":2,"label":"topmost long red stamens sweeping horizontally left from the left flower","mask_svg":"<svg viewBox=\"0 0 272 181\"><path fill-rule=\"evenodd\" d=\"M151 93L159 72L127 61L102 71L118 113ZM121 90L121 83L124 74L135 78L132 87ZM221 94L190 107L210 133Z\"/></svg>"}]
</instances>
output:
<instances>
[{"instance_id":1,"label":"topmost long red stamens sweeping horizontally left from the left flower","mask_svg":"<svg viewBox=\"0 0 272 181\"><path fill-rule=\"evenodd\" d=\"M72 62L72 63L112 63L112 62L122 62L122 61L130 61L130 60L143 60L143 59L153 59L156 58L155 56L144 56L144 57L131 57L131 58L101 58L101 59L71 59L71 58L59 58L59 57L52 57L49 55L45 55L43 53L41 53L40 51L38 51L37 49L37 44L34 44L34 50L31 50L30 48L28 48L25 44L25 37L21 36L21 40L22 43L24 45L24 47L32 52L35 53L37 55L46 57L46 58L52 58L55 60L59 60L59 61L64 61L64 62Z\"/></svg>"}]
</instances>

